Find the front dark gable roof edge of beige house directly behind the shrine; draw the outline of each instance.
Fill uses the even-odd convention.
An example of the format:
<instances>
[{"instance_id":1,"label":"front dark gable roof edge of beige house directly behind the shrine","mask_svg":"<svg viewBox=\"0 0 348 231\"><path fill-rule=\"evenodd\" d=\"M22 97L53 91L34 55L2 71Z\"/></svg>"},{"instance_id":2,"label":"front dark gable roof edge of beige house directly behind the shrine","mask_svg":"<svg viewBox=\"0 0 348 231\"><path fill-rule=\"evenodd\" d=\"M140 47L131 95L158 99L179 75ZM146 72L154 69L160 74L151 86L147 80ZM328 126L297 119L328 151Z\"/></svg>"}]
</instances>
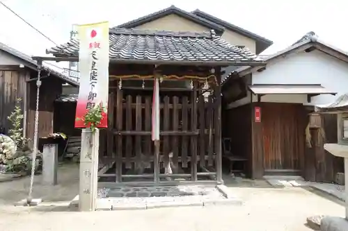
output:
<instances>
[{"instance_id":1,"label":"front dark gable roof edge of beige house directly behind the shrine","mask_svg":"<svg viewBox=\"0 0 348 231\"><path fill-rule=\"evenodd\" d=\"M210 28L210 29L216 31L216 34L218 34L218 35L222 35L222 33L224 31L223 26L220 26L219 24L211 22L211 21L204 19L202 17L198 17L197 15L191 14L191 12L187 12L187 11L182 10L180 8L177 8L173 5L168 7L168 8L165 8L163 10L153 12L150 15L145 15L143 17L139 17L138 19L134 19L134 20L126 22L124 24L120 24L118 26L115 26L114 28L134 28L136 26L140 26L142 24L155 21L156 19L159 19L161 17L165 17L167 15L171 15L171 14L179 15L180 17L184 17L185 19L189 19L193 22L196 22L197 24L200 24L201 26L205 26L207 28Z\"/></svg>"}]
</instances>

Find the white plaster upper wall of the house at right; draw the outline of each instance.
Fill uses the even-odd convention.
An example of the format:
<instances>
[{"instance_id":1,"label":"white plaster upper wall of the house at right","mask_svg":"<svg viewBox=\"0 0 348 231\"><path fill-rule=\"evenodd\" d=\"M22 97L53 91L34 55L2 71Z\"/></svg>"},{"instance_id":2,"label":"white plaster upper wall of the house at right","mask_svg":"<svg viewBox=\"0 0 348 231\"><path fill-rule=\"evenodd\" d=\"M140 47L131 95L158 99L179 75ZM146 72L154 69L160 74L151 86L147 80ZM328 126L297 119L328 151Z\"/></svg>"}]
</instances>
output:
<instances>
[{"instance_id":1,"label":"white plaster upper wall of the house at right","mask_svg":"<svg viewBox=\"0 0 348 231\"><path fill-rule=\"evenodd\" d=\"M322 94L312 97L315 105L332 103L338 96L348 93L348 63L338 60L322 51L306 53L292 53L285 57L276 58L267 64L262 72L255 71L253 84L321 84L329 91L338 92L336 96ZM250 103L248 98L239 100L243 104ZM253 96L253 101L257 97ZM307 96L303 94L274 94L265 95L262 102L278 103L307 103ZM241 103L231 103L228 108L235 108Z\"/></svg>"}]
</instances>

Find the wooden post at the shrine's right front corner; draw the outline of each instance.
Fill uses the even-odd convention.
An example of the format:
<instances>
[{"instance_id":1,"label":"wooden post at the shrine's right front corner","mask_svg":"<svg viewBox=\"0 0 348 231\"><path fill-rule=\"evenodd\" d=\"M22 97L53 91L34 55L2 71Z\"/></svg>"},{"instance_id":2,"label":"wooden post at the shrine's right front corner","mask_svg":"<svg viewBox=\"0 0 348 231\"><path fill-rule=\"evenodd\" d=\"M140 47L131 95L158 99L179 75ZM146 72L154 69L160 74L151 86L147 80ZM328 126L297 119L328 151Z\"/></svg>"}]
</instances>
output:
<instances>
[{"instance_id":1,"label":"wooden post at the shrine's right front corner","mask_svg":"<svg viewBox=\"0 0 348 231\"><path fill-rule=\"evenodd\" d=\"M221 151L221 67L215 68L216 87L214 90L216 104L214 107L215 123L215 153L216 153L216 180L223 183L222 179L222 151Z\"/></svg>"}]
</instances>

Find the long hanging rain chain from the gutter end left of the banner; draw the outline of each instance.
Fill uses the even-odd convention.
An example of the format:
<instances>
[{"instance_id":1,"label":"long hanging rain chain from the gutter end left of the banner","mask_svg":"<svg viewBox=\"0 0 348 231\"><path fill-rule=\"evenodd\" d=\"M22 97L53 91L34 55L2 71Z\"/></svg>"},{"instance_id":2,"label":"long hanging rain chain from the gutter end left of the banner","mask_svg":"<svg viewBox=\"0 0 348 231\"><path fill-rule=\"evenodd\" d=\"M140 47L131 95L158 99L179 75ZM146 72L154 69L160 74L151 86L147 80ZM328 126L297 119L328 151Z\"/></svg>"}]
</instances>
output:
<instances>
[{"instance_id":1,"label":"long hanging rain chain from the gutter end left of the banner","mask_svg":"<svg viewBox=\"0 0 348 231\"><path fill-rule=\"evenodd\" d=\"M39 96L40 96L40 74L41 74L41 65L38 66L38 80L36 80L37 92L36 92L36 110L35 110L35 123L34 123L34 146L33 146L33 156L31 160L31 178L30 178L30 188L29 196L26 199L26 203L30 205L31 203L31 194L33 193L33 182L35 175L35 162L36 154L38 153L38 124L39 124Z\"/></svg>"}]
</instances>

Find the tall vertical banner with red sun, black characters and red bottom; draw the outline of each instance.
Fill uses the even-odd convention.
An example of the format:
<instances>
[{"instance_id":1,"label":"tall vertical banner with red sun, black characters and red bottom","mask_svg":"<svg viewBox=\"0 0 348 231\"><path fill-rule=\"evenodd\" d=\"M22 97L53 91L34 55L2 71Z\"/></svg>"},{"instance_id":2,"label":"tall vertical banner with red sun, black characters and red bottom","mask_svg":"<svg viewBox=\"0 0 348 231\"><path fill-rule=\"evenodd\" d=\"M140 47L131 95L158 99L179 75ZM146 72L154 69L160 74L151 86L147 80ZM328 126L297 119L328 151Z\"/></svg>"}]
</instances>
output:
<instances>
[{"instance_id":1,"label":"tall vertical banner with red sun, black characters and red bottom","mask_svg":"<svg viewBox=\"0 0 348 231\"><path fill-rule=\"evenodd\" d=\"M107 110L109 96L109 22L78 26L80 87L75 128L86 128L88 108L102 105ZM98 128L107 127L107 113ZM80 118L80 119L77 119Z\"/></svg>"}]
</instances>

